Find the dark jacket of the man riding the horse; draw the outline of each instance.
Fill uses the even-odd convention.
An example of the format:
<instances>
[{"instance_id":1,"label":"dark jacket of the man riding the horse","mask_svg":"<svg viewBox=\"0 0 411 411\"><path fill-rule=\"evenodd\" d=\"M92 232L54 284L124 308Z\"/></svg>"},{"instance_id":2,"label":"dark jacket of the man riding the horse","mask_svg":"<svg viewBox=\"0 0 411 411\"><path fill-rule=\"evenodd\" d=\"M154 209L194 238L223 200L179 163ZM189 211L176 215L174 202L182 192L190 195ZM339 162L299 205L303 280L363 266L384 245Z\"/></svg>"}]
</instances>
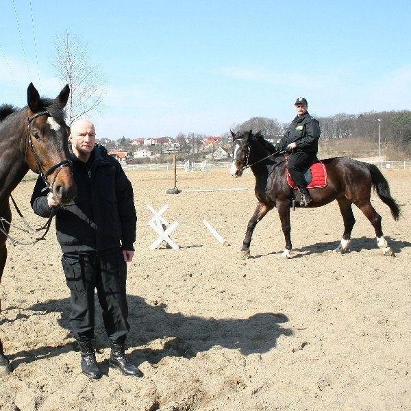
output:
<instances>
[{"instance_id":1,"label":"dark jacket of the man riding the horse","mask_svg":"<svg viewBox=\"0 0 411 411\"><path fill-rule=\"evenodd\" d=\"M296 116L284 137L275 146L277 151L284 150L290 142L297 142L295 151L318 153L320 138L320 125L308 112L303 116Z\"/></svg>"}]
</instances>

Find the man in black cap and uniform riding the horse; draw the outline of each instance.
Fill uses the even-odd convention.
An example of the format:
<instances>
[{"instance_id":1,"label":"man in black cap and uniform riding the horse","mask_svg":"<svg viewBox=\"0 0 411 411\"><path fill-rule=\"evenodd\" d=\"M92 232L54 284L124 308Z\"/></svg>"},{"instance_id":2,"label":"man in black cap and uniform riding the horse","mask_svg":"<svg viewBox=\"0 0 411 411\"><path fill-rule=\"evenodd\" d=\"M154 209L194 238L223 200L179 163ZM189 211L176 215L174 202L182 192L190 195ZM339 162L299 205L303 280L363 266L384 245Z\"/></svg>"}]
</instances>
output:
<instances>
[{"instance_id":1,"label":"man in black cap and uniform riding the horse","mask_svg":"<svg viewBox=\"0 0 411 411\"><path fill-rule=\"evenodd\" d=\"M308 103L304 97L299 97L295 101L297 116L292 120L284 137L275 146L276 151L286 148L291 150L287 169L299 189L300 205L303 207L307 207L312 201L303 173L316 160L320 138L319 122L310 116L307 108Z\"/></svg>"}]
</instances>

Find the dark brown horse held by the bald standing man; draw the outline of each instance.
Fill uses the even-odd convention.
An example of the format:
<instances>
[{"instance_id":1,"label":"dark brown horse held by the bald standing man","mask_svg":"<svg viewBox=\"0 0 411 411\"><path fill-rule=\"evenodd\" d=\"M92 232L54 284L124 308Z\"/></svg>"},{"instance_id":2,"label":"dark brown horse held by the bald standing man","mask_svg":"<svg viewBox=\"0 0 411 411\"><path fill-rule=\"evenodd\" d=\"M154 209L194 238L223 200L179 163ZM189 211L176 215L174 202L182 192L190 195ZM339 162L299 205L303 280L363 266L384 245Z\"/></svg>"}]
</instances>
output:
<instances>
[{"instance_id":1,"label":"dark brown horse held by the bald standing man","mask_svg":"<svg viewBox=\"0 0 411 411\"><path fill-rule=\"evenodd\" d=\"M62 205L70 203L77 193L69 160L68 127L64 123L63 109L69 94L66 85L55 99L40 99L30 83L25 108L0 106L0 280L12 219L9 197L27 171L39 173ZM9 372L10 364L0 340L0 376Z\"/></svg>"}]
</instances>

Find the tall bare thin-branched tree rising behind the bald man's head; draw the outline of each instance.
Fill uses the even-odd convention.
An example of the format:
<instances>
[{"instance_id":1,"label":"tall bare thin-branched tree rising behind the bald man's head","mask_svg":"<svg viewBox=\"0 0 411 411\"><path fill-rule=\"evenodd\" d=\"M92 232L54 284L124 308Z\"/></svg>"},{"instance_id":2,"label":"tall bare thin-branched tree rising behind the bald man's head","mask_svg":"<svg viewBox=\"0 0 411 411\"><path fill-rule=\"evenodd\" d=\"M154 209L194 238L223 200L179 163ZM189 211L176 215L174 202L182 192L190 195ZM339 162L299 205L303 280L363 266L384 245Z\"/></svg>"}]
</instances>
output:
<instances>
[{"instance_id":1,"label":"tall bare thin-branched tree rising behind the bald man's head","mask_svg":"<svg viewBox=\"0 0 411 411\"><path fill-rule=\"evenodd\" d=\"M58 34L54 45L53 67L71 90L66 105L70 125L84 114L101 108L106 79L99 67L90 61L86 44L68 29Z\"/></svg>"}]
</instances>

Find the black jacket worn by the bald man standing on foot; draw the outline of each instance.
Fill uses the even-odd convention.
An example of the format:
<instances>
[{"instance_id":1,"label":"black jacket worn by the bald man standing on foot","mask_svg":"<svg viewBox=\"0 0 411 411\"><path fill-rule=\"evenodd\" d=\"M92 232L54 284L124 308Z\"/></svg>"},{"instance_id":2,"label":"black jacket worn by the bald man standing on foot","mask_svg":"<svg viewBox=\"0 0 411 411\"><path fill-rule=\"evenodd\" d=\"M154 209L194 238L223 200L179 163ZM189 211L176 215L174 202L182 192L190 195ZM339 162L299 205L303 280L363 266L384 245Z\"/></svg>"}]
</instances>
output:
<instances>
[{"instance_id":1,"label":"black jacket worn by the bald man standing on foot","mask_svg":"<svg viewBox=\"0 0 411 411\"><path fill-rule=\"evenodd\" d=\"M88 162L80 161L72 152L73 175L77 197L68 206L59 207L55 214L57 239L63 253L103 251L121 245L133 251L136 240L136 208L132 184L121 164L96 145ZM32 195L36 214L48 217L49 190L39 177Z\"/></svg>"}]
</instances>

